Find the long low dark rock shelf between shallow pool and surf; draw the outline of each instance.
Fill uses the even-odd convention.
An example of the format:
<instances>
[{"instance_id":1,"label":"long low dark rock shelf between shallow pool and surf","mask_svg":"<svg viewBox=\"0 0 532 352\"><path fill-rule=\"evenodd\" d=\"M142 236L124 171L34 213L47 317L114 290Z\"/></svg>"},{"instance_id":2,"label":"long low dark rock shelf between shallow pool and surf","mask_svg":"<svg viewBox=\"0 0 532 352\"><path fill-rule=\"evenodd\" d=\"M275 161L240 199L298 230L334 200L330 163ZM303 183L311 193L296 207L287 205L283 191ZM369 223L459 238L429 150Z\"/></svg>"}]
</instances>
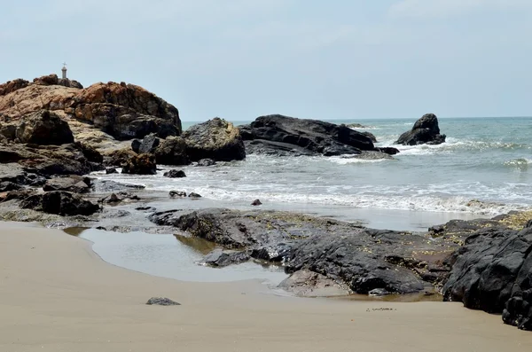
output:
<instances>
[{"instance_id":1,"label":"long low dark rock shelf between shallow pool and surf","mask_svg":"<svg viewBox=\"0 0 532 352\"><path fill-rule=\"evenodd\" d=\"M283 262L289 273L312 271L355 293L434 290L450 270L443 260L458 248L450 236L433 239L429 234L365 229L284 212L169 211L151 215L150 220L225 249L246 250L255 259Z\"/></svg>"}]
</instances>

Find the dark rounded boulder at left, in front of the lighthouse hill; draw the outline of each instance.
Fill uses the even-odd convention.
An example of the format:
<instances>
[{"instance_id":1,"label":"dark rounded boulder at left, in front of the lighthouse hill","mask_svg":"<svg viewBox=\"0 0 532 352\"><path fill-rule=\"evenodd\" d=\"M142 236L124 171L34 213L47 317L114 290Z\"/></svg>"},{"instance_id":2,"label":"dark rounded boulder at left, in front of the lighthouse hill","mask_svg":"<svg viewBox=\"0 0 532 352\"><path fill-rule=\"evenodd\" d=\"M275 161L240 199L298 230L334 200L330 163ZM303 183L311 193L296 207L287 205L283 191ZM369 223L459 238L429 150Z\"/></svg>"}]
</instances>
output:
<instances>
[{"instance_id":1,"label":"dark rounded boulder at left, in front of the lighthouse hill","mask_svg":"<svg viewBox=\"0 0 532 352\"><path fill-rule=\"evenodd\" d=\"M74 142L68 123L48 110L23 116L16 135L21 143L35 145L64 145Z\"/></svg>"}]
</instances>

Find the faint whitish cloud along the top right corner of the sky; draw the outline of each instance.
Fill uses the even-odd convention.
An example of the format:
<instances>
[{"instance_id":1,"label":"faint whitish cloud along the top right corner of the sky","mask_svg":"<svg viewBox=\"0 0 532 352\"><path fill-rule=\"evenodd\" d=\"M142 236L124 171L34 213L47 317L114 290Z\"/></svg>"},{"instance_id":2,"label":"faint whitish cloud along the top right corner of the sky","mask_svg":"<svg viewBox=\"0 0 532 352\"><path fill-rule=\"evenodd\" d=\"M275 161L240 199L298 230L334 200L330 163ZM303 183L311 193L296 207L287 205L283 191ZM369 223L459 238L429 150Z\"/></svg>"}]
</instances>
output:
<instances>
[{"instance_id":1,"label":"faint whitish cloud along the top right corner of the sky","mask_svg":"<svg viewBox=\"0 0 532 352\"><path fill-rule=\"evenodd\" d=\"M392 4L388 15L394 18L446 18L483 10L532 9L530 0L401 0Z\"/></svg>"}]
</instances>

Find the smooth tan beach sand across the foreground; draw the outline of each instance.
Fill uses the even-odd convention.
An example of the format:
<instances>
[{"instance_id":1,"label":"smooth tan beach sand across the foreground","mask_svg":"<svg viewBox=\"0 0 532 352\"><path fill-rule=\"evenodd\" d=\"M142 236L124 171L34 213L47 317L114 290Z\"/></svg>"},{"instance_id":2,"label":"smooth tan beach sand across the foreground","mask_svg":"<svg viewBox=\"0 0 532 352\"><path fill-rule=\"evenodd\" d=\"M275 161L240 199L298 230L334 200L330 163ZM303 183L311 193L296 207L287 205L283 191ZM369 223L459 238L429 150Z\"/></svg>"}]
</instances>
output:
<instances>
[{"instance_id":1,"label":"smooth tan beach sand across the foreground","mask_svg":"<svg viewBox=\"0 0 532 352\"><path fill-rule=\"evenodd\" d=\"M0 351L531 351L460 303L296 299L103 262L62 231L0 223ZM166 296L181 306L147 306ZM373 310L389 308L393 310Z\"/></svg>"}]
</instances>

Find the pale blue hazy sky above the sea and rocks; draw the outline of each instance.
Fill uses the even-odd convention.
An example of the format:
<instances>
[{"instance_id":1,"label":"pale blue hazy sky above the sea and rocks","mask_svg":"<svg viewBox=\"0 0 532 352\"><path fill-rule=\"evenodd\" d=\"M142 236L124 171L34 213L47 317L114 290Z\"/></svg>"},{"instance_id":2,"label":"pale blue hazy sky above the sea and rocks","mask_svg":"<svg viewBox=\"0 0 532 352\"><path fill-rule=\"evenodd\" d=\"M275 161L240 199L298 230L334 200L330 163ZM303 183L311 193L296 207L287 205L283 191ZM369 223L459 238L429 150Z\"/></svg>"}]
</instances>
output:
<instances>
[{"instance_id":1,"label":"pale blue hazy sky above the sea and rocks","mask_svg":"<svg viewBox=\"0 0 532 352\"><path fill-rule=\"evenodd\" d=\"M532 0L25 0L0 82L128 82L182 121L532 115Z\"/></svg>"}]
</instances>

